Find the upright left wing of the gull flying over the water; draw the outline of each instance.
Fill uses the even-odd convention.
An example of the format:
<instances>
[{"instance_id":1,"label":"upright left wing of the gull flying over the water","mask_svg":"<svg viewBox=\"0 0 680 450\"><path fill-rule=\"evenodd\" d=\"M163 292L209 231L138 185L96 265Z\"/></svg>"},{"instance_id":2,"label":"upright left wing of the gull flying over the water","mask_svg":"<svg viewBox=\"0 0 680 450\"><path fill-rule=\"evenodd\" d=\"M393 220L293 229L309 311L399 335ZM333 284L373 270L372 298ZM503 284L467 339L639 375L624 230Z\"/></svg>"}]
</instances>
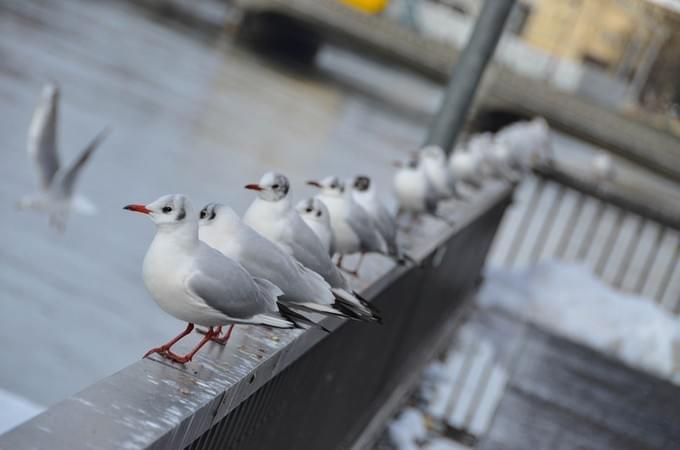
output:
<instances>
[{"instance_id":1,"label":"upright left wing of the gull flying over the water","mask_svg":"<svg viewBox=\"0 0 680 450\"><path fill-rule=\"evenodd\" d=\"M54 87L56 89L56 87ZM47 189L59 170L57 155L59 96L43 99L33 113L28 130L28 156L38 172L41 189Z\"/></svg>"}]
</instances>

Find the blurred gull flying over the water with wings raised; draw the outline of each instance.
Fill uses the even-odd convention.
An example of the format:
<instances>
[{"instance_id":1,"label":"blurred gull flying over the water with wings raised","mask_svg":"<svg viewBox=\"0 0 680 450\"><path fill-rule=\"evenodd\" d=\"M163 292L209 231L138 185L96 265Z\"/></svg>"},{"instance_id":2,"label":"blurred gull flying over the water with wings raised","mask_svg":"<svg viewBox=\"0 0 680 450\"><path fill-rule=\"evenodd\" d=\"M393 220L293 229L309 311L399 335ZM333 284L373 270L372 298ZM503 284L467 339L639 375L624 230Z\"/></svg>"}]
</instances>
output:
<instances>
[{"instance_id":1,"label":"blurred gull flying over the water with wings raised","mask_svg":"<svg viewBox=\"0 0 680 450\"><path fill-rule=\"evenodd\" d=\"M81 169L109 130L101 131L75 161L62 167L57 152L58 117L59 88L50 83L43 88L28 131L28 156L35 165L39 192L22 197L17 207L47 212L50 225L63 230L71 210L80 214L96 212L90 201L74 195L73 190Z\"/></svg>"}]
</instances>

